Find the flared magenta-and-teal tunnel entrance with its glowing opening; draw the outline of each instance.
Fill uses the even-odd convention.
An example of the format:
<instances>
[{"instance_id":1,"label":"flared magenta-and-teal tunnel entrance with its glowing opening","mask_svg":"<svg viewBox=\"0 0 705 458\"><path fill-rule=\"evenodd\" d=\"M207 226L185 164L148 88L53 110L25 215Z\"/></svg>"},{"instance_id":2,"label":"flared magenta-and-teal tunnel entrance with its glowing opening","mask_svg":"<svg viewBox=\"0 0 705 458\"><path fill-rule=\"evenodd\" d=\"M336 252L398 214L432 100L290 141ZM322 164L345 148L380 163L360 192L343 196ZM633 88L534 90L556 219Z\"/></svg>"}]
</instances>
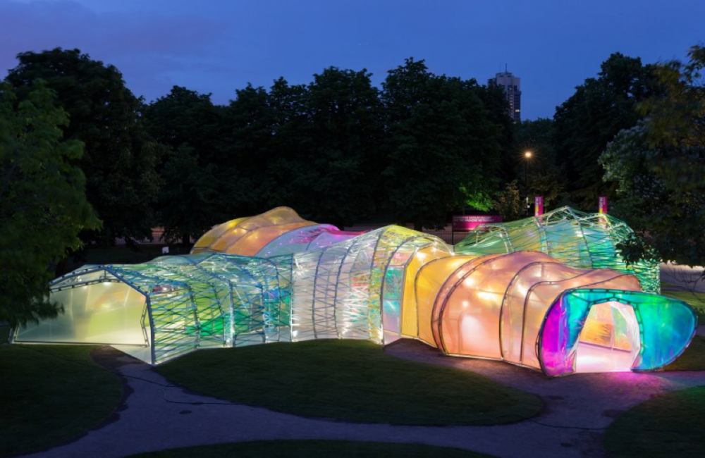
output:
<instances>
[{"instance_id":1,"label":"flared magenta-and-teal tunnel entrance with its glowing opening","mask_svg":"<svg viewBox=\"0 0 705 458\"><path fill-rule=\"evenodd\" d=\"M650 371L675 361L696 329L695 312L678 299L577 288L551 304L536 343L548 376Z\"/></svg>"}]
</instances>

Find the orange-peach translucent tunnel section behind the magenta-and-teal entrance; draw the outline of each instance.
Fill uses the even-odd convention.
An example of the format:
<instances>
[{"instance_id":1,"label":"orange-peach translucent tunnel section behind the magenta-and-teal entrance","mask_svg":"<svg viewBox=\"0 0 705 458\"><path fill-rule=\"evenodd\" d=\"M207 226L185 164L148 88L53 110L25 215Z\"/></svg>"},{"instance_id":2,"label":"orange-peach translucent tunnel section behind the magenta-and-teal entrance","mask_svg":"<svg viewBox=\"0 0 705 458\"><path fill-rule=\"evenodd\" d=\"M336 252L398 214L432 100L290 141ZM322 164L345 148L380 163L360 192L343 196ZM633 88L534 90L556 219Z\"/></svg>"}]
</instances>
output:
<instances>
[{"instance_id":1,"label":"orange-peach translucent tunnel section behind the magenta-and-teal entrance","mask_svg":"<svg viewBox=\"0 0 705 458\"><path fill-rule=\"evenodd\" d=\"M408 328L416 324L420 340L448 354L540 369L536 345L544 317L562 292L575 287L640 290L635 276L573 268L541 252L450 256L419 269L417 322L405 316L405 335L412 335ZM597 316L588 339L611 338L610 313Z\"/></svg>"}]
</instances>

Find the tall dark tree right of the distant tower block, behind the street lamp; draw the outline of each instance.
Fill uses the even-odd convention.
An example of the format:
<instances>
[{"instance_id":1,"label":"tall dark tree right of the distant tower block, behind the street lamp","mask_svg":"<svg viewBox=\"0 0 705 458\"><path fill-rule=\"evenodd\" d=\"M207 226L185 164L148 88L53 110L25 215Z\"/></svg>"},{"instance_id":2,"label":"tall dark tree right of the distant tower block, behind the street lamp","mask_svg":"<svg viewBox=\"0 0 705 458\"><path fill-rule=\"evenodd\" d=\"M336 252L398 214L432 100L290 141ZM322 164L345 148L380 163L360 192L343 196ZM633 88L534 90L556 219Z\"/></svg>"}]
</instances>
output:
<instances>
[{"instance_id":1,"label":"tall dark tree right of the distant tower block, behind the street lamp","mask_svg":"<svg viewBox=\"0 0 705 458\"><path fill-rule=\"evenodd\" d=\"M642 65L639 58L612 54L601 64L598 78L585 80L556 109L558 165L577 206L591 209L599 195L613 195L613 185L602 182L598 158L620 130L633 127L642 118L636 105L659 92L653 68Z\"/></svg>"}]
</instances>

